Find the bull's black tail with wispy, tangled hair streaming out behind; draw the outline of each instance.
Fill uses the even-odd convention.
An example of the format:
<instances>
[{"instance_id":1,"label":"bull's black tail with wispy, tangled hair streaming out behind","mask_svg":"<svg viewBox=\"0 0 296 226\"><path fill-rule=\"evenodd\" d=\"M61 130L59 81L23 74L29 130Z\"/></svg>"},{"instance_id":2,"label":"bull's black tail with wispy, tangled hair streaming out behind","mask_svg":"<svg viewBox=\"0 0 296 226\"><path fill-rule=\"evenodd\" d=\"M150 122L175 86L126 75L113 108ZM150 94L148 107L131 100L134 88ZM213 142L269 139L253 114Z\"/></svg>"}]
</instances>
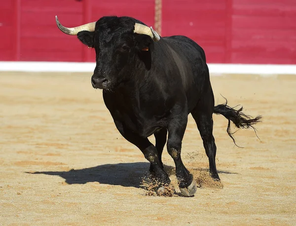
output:
<instances>
[{"instance_id":1,"label":"bull's black tail with wispy, tangled hair streaming out behind","mask_svg":"<svg viewBox=\"0 0 296 226\"><path fill-rule=\"evenodd\" d=\"M229 135L229 137L233 140L234 144L235 140L232 136L232 134L234 134L235 132L231 133L231 129L230 129L230 121L232 121L234 123L234 125L237 128L243 128L243 129L248 129L248 128L253 128L256 134L256 129L254 128L253 125L255 125L257 122L260 122L260 119L262 118L261 115L258 115L255 118L252 118L249 115L246 115L244 113L242 113L243 107L241 107L239 110L235 110L233 108L230 108L229 106L227 106L227 100L225 104L220 104L214 107L214 113L215 114L222 114L225 118L228 119L228 126L227 126L227 133ZM256 134L257 136L257 134ZM258 136L257 136L258 137ZM236 145L237 146L237 145Z\"/></svg>"}]
</instances>

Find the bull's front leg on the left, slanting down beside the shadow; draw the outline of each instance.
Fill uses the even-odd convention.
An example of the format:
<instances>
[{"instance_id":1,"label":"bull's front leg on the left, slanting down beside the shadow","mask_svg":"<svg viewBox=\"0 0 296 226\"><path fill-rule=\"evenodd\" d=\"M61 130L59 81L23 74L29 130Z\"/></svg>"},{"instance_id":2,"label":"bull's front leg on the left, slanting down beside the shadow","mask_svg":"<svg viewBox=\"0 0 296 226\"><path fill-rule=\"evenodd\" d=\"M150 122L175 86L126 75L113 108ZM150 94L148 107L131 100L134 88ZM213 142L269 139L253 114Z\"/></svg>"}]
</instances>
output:
<instances>
[{"instance_id":1,"label":"bull's front leg on the left, slanting down beside the shadow","mask_svg":"<svg viewBox=\"0 0 296 226\"><path fill-rule=\"evenodd\" d=\"M138 134L126 128L121 122L114 121L120 134L130 143L137 146L145 158L150 162L150 172L156 177L161 184L170 184L171 180L159 161L158 153L154 145L152 145L148 138L143 138Z\"/></svg>"}]
</instances>

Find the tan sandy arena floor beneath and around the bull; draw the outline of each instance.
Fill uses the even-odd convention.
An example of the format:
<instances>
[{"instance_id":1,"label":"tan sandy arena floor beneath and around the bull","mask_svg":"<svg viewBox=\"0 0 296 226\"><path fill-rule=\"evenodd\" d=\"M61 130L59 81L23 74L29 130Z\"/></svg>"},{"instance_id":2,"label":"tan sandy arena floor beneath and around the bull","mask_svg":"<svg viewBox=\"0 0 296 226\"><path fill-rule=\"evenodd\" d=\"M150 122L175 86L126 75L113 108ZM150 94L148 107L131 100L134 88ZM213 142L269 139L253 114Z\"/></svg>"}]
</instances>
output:
<instances>
[{"instance_id":1,"label":"tan sandy arena floor beneath and around the bull","mask_svg":"<svg viewBox=\"0 0 296 226\"><path fill-rule=\"evenodd\" d=\"M240 130L245 148L235 147L214 115L217 187L189 115L182 156L201 188L185 198L146 195L148 162L115 129L90 77L0 74L0 225L296 225L296 78L211 78L216 104L222 94L263 115L261 141Z\"/></svg>"}]
</instances>

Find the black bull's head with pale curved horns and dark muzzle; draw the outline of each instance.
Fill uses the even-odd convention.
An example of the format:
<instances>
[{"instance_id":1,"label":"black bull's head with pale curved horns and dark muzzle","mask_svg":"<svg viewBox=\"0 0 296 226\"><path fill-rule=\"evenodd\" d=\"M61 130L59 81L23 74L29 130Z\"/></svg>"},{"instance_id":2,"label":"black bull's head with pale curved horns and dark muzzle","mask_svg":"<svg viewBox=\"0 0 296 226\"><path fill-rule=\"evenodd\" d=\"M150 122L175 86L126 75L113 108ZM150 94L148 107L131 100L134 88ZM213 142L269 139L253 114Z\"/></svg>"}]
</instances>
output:
<instances>
[{"instance_id":1,"label":"black bull's head with pale curved horns and dark muzzle","mask_svg":"<svg viewBox=\"0 0 296 226\"><path fill-rule=\"evenodd\" d=\"M153 41L159 41L159 35L130 17L102 17L97 22L75 28L66 28L56 16L58 28L77 38L96 51L96 68L91 78L94 88L113 89L128 81L135 68L151 67L150 47ZM138 63L137 63L138 62Z\"/></svg>"}]
</instances>

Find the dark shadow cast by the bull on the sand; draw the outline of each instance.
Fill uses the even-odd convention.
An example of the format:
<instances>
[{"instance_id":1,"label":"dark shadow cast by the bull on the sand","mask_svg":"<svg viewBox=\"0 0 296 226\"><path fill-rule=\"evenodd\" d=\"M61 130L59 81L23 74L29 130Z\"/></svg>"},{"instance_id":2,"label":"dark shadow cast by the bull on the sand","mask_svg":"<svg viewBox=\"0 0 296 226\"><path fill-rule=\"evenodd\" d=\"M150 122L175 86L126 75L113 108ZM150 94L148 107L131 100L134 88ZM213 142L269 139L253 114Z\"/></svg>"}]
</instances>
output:
<instances>
[{"instance_id":1,"label":"dark shadow cast by the bull on the sand","mask_svg":"<svg viewBox=\"0 0 296 226\"><path fill-rule=\"evenodd\" d=\"M99 182L100 184L141 188L143 178L149 174L149 166L150 163L147 162L117 163L70 171L41 171L30 174L60 176L69 185ZM171 176L174 174L175 167L164 165L164 170ZM209 169L198 168L197 170L208 171ZM218 173L237 174L228 171L218 171Z\"/></svg>"}]
</instances>

